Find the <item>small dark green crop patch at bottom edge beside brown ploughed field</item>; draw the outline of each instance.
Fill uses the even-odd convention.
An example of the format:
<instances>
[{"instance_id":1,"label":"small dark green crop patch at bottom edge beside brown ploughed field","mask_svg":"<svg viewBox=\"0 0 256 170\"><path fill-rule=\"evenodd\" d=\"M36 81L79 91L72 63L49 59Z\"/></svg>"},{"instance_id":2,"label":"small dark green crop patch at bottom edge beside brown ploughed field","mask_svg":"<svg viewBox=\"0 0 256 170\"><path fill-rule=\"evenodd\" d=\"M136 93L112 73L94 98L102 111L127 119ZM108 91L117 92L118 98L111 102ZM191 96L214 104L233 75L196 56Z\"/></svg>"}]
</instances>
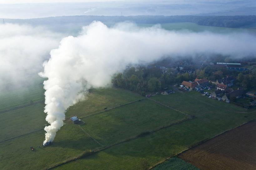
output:
<instances>
[{"instance_id":1,"label":"small dark green crop patch at bottom edge beside brown ploughed field","mask_svg":"<svg viewBox=\"0 0 256 170\"><path fill-rule=\"evenodd\" d=\"M171 158L168 161L156 166L153 170L200 170L195 166L179 159L177 157Z\"/></svg>"}]
</instances>

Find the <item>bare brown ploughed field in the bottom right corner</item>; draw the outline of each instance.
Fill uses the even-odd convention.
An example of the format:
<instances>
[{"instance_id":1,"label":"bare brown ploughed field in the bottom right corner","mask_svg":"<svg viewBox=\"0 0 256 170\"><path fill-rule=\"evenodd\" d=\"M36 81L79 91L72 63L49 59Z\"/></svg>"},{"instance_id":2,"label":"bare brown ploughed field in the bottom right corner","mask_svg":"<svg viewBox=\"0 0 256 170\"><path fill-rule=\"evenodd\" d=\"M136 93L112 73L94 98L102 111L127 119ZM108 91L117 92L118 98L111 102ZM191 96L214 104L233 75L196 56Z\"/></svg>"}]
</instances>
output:
<instances>
[{"instance_id":1,"label":"bare brown ploughed field in the bottom right corner","mask_svg":"<svg viewBox=\"0 0 256 170\"><path fill-rule=\"evenodd\" d=\"M192 148L179 157L202 170L256 169L256 122Z\"/></svg>"}]
</instances>

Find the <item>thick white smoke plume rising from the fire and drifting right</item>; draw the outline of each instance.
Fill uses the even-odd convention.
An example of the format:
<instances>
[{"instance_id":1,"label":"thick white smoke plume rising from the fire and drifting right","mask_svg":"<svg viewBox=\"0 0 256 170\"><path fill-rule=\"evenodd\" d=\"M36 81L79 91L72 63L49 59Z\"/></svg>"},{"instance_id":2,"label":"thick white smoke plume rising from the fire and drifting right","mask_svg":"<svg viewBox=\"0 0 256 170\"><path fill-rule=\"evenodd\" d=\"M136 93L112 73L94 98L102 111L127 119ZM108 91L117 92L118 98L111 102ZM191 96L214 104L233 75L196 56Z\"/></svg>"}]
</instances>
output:
<instances>
[{"instance_id":1,"label":"thick white smoke plume rising from the fire and drifting right","mask_svg":"<svg viewBox=\"0 0 256 170\"><path fill-rule=\"evenodd\" d=\"M164 55L217 53L232 56L255 54L256 38L248 34L170 32L160 26L139 28L120 23L108 28L102 22L83 27L81 35L63 38L44 63L46 120L45 141L52 142L63 126L65 110L83 97L81 90L111 83L114 73L127 64L147 63Z\"/></svg>"}]
</instances>

